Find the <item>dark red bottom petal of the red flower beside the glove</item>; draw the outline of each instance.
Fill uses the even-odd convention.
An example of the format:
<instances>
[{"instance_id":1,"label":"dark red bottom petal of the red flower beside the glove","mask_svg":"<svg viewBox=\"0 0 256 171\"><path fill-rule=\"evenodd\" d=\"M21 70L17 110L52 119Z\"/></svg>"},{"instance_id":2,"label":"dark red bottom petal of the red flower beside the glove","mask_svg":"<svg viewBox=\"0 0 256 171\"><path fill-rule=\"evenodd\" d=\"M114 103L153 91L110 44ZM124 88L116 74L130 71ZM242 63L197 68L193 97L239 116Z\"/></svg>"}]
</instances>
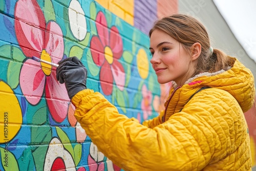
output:
<instances>
[{"instance_id":1,"label":"dark red bottom petal of the red flower beside the glove","mask_svg":"<svg viewBox=\"0 0 256 171\"><path fill-rule=\"evenodd\" d=\"M113 91L113 75L108 62L104 62L99 73L100 86L105 95L111 95Z\"/></svg>"}]
</instances>

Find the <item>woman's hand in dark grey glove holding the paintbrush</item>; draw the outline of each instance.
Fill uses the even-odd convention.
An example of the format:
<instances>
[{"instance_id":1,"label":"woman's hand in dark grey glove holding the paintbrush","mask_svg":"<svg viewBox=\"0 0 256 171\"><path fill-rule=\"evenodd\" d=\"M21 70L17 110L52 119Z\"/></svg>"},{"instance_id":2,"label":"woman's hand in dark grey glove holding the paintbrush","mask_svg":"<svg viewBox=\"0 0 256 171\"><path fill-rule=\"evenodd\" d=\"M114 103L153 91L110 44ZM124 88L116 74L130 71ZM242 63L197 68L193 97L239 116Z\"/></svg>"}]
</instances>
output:
<instances>
[{"instance_id":1,"label":"woman's hand in dark grey glove holding the paintbrush","mask_svg":"<svg viewBox=\"0 0 256 171\"><path fill-rule=\"evenodd\" d=\"M69 98L86 89L87 69L77 57L69 57L60 60L56 71L59 83L64 83L68 91Z\"/></svg>"}]
</instances>

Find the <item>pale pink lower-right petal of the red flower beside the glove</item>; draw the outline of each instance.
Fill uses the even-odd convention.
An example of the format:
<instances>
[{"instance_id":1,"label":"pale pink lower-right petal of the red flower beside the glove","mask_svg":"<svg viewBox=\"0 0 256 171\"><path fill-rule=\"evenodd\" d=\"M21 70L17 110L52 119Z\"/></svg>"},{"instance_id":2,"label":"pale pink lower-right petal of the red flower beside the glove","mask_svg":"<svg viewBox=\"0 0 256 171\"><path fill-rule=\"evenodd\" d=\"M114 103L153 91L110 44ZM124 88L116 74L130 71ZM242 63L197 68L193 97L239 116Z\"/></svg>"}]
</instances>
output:
<instances>
[{"instance_id":1,"label":"pale pink lower-right petal of the red flower beside the glove","mask_svg":"<svg viewBox=\"0 0 256 171\"><path fill-rule=\"evenodd\" d=\"M124 83L125 83L125 73L124 73L123 66L115 58L114 58L114 62L111 65L111 71L112 71L114 80L116 82L116 86L118 87L118 89L123 91Z\"/></svg>"}]
</instances>

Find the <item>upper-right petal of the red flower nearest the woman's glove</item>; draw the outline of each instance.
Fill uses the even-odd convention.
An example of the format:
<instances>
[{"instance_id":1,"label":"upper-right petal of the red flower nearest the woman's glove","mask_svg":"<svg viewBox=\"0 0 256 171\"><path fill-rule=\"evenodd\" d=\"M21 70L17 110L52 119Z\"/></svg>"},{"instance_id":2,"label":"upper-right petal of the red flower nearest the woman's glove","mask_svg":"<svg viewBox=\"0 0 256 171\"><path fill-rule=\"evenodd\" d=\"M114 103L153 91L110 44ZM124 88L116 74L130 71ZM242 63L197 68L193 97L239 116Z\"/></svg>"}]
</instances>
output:
<instances>
[{"instance_id":1,"label":"upper-right petal of the red flower nearest the woman's glove","mask_svg":"<svg viewBox=\"0 0 256 171\"><path fill-rule=\"evenodd\" d=\"M123 41L118 29L113 26L110 30L110 48L113 52L113 57L119 59L123 53Z\"/></svg>"}]
</instances>

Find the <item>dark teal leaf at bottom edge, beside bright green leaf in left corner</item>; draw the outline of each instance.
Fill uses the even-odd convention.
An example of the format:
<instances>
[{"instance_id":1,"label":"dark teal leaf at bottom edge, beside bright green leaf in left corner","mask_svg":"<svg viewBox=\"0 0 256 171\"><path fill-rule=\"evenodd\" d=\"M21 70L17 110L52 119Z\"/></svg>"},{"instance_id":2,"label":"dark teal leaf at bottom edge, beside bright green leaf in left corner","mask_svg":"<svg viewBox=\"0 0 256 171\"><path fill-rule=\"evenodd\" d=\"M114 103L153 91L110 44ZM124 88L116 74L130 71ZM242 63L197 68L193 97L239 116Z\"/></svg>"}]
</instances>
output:
<instances>
[{"instance_id":1,"label":"dark teal leaf at bottom edge, beside bright green leaf in left corner","mask_svg":"<svg viewBox=\"0 0 256 171\"><path fill-rule=\"evenodd\" d=\"M35 162L31 148L26 148L18 159L19 170L35 170Z\"/></svg>"}]
</instances>

